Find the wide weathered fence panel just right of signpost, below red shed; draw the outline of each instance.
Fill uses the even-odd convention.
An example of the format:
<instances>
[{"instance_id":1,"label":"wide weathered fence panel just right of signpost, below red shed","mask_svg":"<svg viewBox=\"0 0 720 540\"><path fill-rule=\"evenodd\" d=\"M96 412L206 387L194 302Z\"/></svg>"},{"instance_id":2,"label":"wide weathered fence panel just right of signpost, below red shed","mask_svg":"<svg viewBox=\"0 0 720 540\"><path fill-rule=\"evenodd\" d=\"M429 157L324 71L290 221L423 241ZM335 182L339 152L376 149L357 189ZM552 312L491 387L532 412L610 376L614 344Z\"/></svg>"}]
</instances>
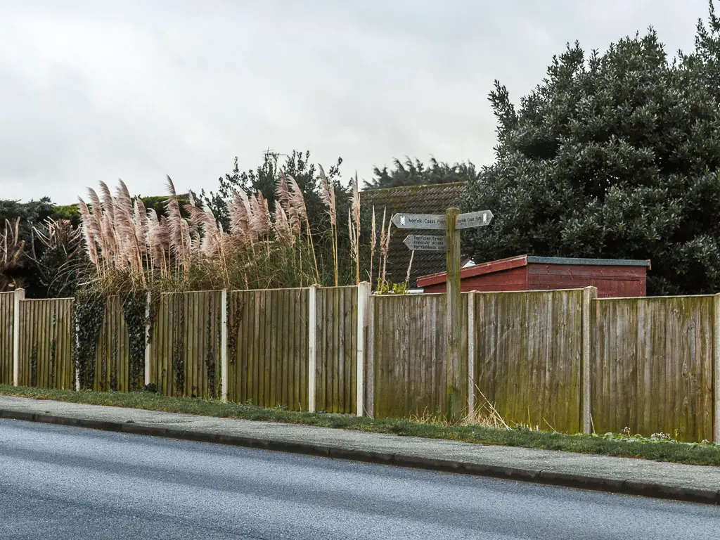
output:
<instances>
[{"instance_id":1,"label":"wide weathered fence panel just right of signpost, below red shed","mask_svg":"<svg viewBox=\"0 0 720 540\"><path fill-rule=\"evenodd\" d=\"M508 423L582 430L582 290L475 296L475 404Z\"/></svg>"}]
</instances>

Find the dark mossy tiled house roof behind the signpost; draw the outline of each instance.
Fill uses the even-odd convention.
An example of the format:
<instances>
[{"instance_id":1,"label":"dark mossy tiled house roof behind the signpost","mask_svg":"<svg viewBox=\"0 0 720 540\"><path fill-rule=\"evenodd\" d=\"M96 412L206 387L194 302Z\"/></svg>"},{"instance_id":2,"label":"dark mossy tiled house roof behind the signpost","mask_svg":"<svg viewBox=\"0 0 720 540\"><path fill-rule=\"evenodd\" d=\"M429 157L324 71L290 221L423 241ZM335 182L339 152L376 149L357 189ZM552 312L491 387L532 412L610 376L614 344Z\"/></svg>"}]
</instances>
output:
<instances>
[{"instance_id":1,"label":"dark mossy tiled house roof behind the signpost","mask_svg":"<svg viewBox=\"0 0 720 540\"><path fill-rule=\"evenodd\" d=\"M377 226L382 220L382 211L387 208L387 219L396 212L415 214L444 214L450 207L460 207L460 199L466 183L431 184L426 186L402 186L387 189L366 189L360 192L361 206L364 209L375 207ZM390 251L387 256L387 279L392 282L404 282L410 263L410 250L403 240L409 234L444 235L441 230L392 229ZM415 287L418 276L426 276L444 271L445 253L433 251L415 251L413 266L410 269L410 287Z\"/></svg>"}]
</instances>

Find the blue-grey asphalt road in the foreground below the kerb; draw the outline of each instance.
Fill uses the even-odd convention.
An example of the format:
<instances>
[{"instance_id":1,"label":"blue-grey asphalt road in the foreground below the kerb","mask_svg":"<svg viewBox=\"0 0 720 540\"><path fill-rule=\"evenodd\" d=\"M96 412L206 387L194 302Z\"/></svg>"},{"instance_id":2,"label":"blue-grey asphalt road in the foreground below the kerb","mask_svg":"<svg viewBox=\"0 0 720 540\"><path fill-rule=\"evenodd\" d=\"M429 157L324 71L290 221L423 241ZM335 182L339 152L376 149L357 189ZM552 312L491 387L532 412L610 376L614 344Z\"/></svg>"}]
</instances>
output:
<instances>
[{"instance_id":1,"label":"blue-grey asphalt road in the foreground below the kerb","mask_svg":"<svg viewBox=\"0 0 720 540\"><path fill-rule=\"evenodd\" d=\"M720 508L0 420L0 539L720 537Z\"/></svg>"}]
</instances>

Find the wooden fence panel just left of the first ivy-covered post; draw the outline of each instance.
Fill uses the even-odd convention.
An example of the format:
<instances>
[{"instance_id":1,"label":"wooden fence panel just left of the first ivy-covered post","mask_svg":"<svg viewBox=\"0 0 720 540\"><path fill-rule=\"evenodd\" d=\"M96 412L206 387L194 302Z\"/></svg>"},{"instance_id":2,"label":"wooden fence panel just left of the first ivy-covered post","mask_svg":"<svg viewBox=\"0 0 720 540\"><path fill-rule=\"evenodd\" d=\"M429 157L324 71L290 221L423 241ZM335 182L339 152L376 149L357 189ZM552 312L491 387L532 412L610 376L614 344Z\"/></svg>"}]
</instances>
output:
<instances>
[{"instance_id":1,"label":"wooden fence panel just left of the first ivy-covered post","mask_svg":"<svg viewBox=\"0 0 720 540\"><path fill-rule=\"evenodd\" d=\"M19 384L74 388L73 299L22 300L19 311Z\"/></svg>"}]
</instances>

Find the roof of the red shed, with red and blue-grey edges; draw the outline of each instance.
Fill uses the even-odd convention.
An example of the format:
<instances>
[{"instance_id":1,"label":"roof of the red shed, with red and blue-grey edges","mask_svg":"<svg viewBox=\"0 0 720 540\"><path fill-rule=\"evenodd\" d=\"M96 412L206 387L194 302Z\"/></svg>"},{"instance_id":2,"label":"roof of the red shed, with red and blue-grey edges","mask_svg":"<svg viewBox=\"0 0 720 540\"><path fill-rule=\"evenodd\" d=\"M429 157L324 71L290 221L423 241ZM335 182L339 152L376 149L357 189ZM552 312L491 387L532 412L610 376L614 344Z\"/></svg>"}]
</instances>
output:
<instances>
[{"instance_id":1,"label":"roof of the red shed, with red and blue-grey edges","mask_svg":"<svg viewBox=\"0 0 720 540\"><path fill-rule=\"evenodd\" d=\"M572 257L537 257L532 255L518 255L508 258L500 258L497 261L489 261L460 270L460 279L482 274L491 274L503 270L527 266L528 264L573 264L577 266L645 266L649 268L650 261L637 261L626 258L572 258ZM446 272L440 271L435 274L418 277L418 287L427 287L436 283L446 281Z\"/></svg>"}]
</instances>

